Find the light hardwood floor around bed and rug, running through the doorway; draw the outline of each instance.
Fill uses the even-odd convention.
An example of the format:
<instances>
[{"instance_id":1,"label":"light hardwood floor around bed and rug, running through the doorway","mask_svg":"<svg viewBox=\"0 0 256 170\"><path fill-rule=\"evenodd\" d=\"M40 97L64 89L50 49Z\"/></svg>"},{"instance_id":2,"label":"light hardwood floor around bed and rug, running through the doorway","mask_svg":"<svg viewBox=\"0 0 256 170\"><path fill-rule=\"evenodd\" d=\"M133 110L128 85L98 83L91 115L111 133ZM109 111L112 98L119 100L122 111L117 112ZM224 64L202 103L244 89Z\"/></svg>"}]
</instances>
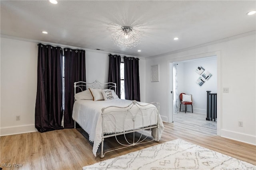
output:
<instances>
[{"instance_id":1,"label":"light hardwood floor around bed and rug, running through the doorway","mask_svg":"<svg viewBox=\"0 0 256 170\"><path fill-rule=\"evenodd\" d=\"M164 123L159 143L180 138L256 165L256 146L219 137L214 129L200 126L200 120L191 121L195 113L184 114L174 115L174 123ZM117 150L101 159L100 148L94 157L88 135L82 133L84 137L79 131L63 129L0 137L1 167L10 163L11 167L4 167L4 170L81 170L83 166L159 144L151 142ZM105 144L106 149L118 146L114 138L106 139ZM15 168L13 164L22 164L22 167Z\"/></svg>"}]
</instances>

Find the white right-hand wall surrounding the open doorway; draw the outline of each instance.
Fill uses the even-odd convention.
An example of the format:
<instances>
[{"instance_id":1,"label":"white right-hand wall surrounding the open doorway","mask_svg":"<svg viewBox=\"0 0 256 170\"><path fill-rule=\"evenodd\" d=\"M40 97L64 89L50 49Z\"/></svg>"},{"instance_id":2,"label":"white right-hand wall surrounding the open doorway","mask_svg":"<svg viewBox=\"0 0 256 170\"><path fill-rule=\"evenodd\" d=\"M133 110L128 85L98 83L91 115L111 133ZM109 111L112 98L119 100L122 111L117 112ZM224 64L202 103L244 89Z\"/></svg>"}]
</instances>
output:
<instances>
[{"instance_id":1,"label":"white right-hand wall surrounding the open doorway","mask_svg":"<svg viewBox=\"0 0 256 170\"><path fill-rule=\"evenodd\" d=\"M168 62L216 55L218 84L218 135L256 145L256 36L245 34L212 45L146 59L146 102L160 102L168 120ZM150 66L160 64L160 82L150 82ZM229 88L229 93L223 93ZM238 127L243 121L243 127Z\"/></svg>"}]
</instances>

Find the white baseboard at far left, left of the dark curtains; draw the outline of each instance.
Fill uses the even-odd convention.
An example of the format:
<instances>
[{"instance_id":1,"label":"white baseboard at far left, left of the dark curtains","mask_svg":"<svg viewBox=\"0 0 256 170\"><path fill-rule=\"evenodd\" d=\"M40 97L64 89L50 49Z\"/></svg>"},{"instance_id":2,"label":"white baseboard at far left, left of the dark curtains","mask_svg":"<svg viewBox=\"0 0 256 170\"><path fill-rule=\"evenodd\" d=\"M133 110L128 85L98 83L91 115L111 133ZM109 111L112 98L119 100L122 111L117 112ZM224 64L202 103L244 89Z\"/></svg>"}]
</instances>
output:
<instances>
[{"instance_id":1,"label":"white baseboard at far left, left of the dark curtains","mask_svg":"<svg viewBox=\"0 0 256 170\"><path fill-rule=\"evenodd\" d=\"M22 126L11 126L2 127L0 129L0 136L16 135L21 133L37 132L35 125L22 125Z\"/></svg>"}]
</instances>

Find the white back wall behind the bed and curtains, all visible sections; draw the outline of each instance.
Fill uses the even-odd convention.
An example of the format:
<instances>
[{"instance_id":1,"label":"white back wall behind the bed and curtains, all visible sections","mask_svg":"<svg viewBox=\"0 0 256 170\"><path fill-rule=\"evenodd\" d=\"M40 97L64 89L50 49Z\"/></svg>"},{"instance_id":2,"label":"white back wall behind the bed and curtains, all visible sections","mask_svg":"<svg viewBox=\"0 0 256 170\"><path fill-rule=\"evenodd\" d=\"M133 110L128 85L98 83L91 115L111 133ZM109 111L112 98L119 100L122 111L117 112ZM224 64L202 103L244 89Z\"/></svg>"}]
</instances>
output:
<instances>
[{"instance_id":1,"label":"white back wall behind the bed and curtains, all visible sections","mask_svg":"<svg viewBox=\"0 0 256 170\"><path fill-rule=\"evenodd\" d=\"M60 47L63 46L60 45ZM1 37L0 50L0 135L37 131L34 120L37 90L37 43ZM108 54L86 50L87 82L108 81ZM141 101L145 102L145 59L140 59L139 64L140 96ZM20 121L16 121L16 115L20 115Z\"/></svg>"}]
</instances>

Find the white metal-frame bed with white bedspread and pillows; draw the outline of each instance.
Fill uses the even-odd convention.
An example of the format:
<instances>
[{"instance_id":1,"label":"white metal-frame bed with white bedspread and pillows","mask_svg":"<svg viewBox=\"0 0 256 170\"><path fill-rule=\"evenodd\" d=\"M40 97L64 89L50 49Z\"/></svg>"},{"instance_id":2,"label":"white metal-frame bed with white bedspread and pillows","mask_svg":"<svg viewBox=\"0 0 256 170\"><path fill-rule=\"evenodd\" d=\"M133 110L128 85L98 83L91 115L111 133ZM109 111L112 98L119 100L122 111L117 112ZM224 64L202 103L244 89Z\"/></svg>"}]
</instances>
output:
<instances>
[{"instance_id":1,"label":"white metal-frame bed with white bedspread and pillows","mask_svg":"<svg viewBox=\"0 0 256 170\"><path fill-rule=\"evenodd\" d=\"M159 103L147 104L119 99L115 93L116 84L112 82L100 83L97 80L92 83L75 82L74 91L72 118L88 133L89 141L93 142L94 156L100 144L102 144L101 158L107 152L117 150L104 152L104 139L108 137L117 135L126 137L127 133L141 133L138 140L128 141L125 138L127 143L120 143L116 137L118 143L122 145L118 149L160 141L164 125L159 114ZM145 141L148 136L152 136L152 140Z\"/></svg>"}]
</instances>

